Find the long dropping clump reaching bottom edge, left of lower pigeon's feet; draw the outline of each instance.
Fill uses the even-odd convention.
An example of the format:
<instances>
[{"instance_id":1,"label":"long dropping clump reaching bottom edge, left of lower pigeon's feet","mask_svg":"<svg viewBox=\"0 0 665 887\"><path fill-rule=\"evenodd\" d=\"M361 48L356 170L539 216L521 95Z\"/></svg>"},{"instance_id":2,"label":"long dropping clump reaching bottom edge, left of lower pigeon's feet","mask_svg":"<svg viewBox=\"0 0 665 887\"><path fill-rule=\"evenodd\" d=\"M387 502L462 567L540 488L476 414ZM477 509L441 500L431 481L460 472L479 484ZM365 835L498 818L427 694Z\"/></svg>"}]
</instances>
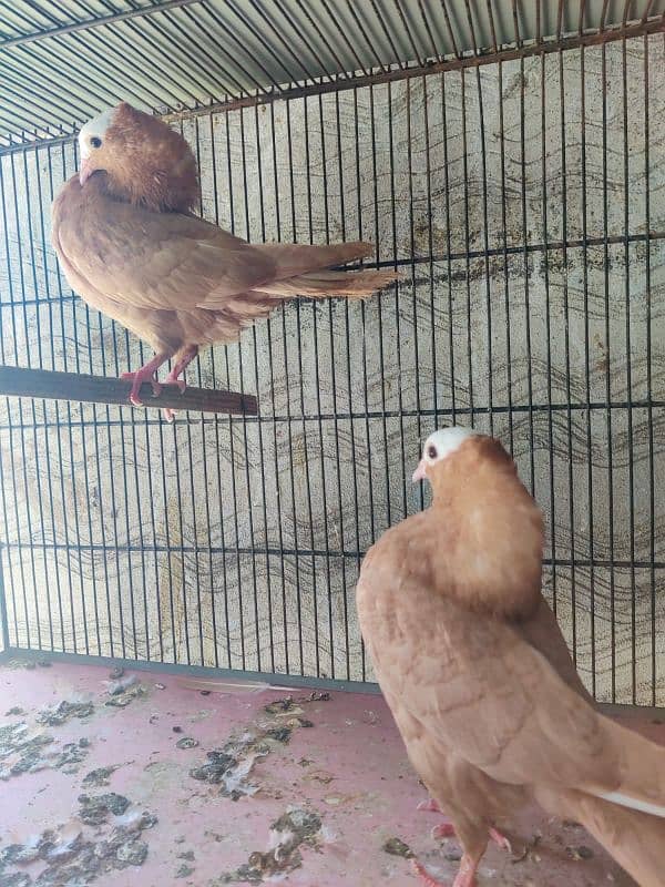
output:
<instances>
[{"instance_id":1,"label":"long dropping clump reaching bottom edge, left of lower pigeon's feet","mask_svg":"<svg viewBox=\"0 0 665 887\"><path fill-rule=\"evenodd\" d=\"M212 887L242 881L262 884L275 876L284 876L303 865L300 847L318 847L320 840L320 817L309 810L289 808L270 826L267 852L255 850L245 865L222 875Z\"/></svg>"}]
</instances>

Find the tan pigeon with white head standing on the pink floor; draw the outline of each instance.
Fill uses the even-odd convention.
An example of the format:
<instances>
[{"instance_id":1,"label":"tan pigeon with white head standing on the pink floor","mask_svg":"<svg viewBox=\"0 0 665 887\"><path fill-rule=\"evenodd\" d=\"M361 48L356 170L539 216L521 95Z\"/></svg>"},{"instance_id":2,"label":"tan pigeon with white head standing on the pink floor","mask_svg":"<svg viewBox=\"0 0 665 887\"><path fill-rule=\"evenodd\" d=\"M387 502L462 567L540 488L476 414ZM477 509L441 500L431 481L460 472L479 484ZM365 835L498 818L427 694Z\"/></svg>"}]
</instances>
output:
<instances>
[{"instance_id":1,"label":"tan pigeon with white head standing on the pink floor","mask_svg":"<svg viewBox=\"0 0 665 887\"><path fill-rule=\"evenodd\" d=\"M665 748L600 714L541 593L541 512L492 438L437 431L431 508L362 563L362 636L409 758L475 885L488 837L535 801L581 822L642 887L665 884ZM417 868L424 881L437 881Z\"/></svg>"}]
</instances>

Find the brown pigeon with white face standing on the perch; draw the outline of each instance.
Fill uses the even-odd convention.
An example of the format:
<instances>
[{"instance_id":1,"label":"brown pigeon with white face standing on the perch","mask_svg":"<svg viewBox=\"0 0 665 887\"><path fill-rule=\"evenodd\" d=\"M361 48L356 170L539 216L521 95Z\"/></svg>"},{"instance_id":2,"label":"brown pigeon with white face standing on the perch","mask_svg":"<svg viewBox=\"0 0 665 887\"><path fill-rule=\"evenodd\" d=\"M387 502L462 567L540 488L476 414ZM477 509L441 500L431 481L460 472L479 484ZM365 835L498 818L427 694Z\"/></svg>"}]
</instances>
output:
<instances>
[{"instance_id":1,"label":"brown pigeon with white face standing on the perch","mask_svg":"<svg viewBox=\"0 0 665 887\"><path fill-rule=\"evenodd\" d=\"M53 203L53 246L72 288L154 349L123 376L135 405L143 383L158 391L162 364L175 358L166 381L184 390L180 376L201 347L236 340L285 299L365 298L396 277L329 269L369 255L368 243L249 245L193 215L190 146L126 103L86 123L79 145L79 175Z\"/></svg>"}]
</instances>

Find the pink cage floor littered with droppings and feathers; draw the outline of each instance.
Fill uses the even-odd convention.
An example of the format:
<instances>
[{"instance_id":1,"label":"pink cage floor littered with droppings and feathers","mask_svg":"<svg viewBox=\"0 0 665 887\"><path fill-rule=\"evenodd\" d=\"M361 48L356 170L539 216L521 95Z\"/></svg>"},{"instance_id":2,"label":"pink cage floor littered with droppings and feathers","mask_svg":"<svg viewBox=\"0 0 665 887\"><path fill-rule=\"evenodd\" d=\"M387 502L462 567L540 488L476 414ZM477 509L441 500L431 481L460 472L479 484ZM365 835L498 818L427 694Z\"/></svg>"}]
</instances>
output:
<instances>
[{"instance_id":1,"label":"pink cage floor littered with droppings and feathers","mask_svg":"<svg viewBox=\"0 0 665 887\"><path fill-rule=\"evenodd\" d=\"M0 887L415 887L411 854L452 881L459 847L416 812L426 793L380 697L202 695L163 672L111 696L109 679L98 665L0 666ZM664 724L633 725L665 741ZM101 795L111 809L95 816ZM514 855L490 847L480 887L632 884L572 823L534 813L515 828Z\"/></svg>"}]
</instances>

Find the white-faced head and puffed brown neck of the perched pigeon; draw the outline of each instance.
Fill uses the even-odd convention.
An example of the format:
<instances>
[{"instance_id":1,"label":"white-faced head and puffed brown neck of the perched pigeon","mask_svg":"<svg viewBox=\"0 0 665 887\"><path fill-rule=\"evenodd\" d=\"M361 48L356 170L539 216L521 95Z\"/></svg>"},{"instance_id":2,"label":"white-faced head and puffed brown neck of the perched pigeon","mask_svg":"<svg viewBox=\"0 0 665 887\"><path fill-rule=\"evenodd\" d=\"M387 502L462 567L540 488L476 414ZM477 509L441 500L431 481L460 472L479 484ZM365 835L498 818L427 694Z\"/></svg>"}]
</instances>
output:
<instances>
[{"instance_id":1,"label":"white-faced head and puffed brown neck of the perched pigeon","mask_svg":"<svg viewBox=\"0 0 665 887\"><path fill-rule=\"evenodd\" d=\"M114 197L154 212L191 211L198 200L196 161L183 136L126 102L79 133L79 182L91 177Z\"/></svg>"}]
</instances>

